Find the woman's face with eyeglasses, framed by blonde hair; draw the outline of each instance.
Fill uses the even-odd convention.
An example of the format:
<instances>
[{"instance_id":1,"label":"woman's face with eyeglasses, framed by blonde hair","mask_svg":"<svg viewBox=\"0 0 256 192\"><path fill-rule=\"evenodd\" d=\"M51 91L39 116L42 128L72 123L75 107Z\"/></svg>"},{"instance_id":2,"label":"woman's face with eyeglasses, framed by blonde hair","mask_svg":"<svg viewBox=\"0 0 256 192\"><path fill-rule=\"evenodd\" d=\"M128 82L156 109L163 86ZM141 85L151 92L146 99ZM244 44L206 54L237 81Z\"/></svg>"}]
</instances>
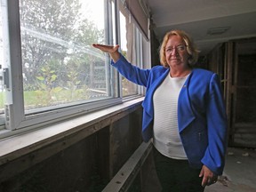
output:
<instances>
[{"instance_id":1,"label":"woman's face with eyeglasses, framed by blonde hair","mask_svg":"<svg viewBox=\"0 0 256 192\"><path fill-rule=\"evenodd\" d=\"M170 36L164 49L165 60L174 69L188 68L189 54L184 40L180 36Z\"/></svg>"}]
</instances>

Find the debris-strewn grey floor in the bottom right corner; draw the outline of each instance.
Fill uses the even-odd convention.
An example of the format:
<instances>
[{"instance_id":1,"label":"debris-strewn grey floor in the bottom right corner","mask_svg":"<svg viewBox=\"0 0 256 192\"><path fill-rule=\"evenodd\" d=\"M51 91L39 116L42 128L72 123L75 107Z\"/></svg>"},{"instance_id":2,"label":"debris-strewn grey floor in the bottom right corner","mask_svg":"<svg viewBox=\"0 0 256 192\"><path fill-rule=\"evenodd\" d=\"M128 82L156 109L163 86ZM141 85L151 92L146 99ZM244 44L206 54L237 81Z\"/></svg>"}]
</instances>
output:
<instances>
[{"instance_id":1,"label":"debris-strewn grey floor in the bottom right corner","mask_svg":"<svg viewBox=\"0 0 256 192\"><path fill-rule=\"evenodd\" d=\"M256 149L228 148L223 175L204 192L256 192Z\"/></svg>"}]
</instances>

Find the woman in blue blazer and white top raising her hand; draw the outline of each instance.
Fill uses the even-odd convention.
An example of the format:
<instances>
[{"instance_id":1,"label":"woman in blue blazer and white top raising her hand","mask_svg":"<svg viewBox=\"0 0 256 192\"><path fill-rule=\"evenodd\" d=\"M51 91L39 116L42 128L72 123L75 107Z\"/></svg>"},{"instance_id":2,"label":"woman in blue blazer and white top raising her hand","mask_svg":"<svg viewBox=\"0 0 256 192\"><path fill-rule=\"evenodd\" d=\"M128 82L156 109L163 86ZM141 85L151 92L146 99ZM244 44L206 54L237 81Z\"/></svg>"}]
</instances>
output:
<instances>
[{"instance_id":1,"label":"woman in blue blazer and white top raising her hand","mask_svg":"<svg viewBox=\"0 0 256 192\"><path fill-rule=\"evenodd\" d=\"M193 68L195 44L184 31L164 36L162 66L140 69L118 52L118 45L93 44L108 52L111 64L127 79L147 87L142 103L142 137L153 138L156 172L162 191L204 191L225 163L227 118L220 80Z\"/></svg>"}]
</instances>

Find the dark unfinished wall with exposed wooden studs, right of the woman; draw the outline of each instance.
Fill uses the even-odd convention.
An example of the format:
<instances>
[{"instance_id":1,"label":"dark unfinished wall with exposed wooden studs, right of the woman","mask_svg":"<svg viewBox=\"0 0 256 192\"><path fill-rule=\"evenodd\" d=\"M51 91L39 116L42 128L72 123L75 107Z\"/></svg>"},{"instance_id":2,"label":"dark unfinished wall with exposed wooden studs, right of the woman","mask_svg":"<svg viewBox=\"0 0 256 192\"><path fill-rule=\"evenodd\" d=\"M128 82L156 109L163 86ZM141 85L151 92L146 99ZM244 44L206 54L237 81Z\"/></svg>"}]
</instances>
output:
<instances>
[{"instance_id":1,"label":"dark unfinished wall with exposed wooden studs, right of the woman","mask_svg":"<svg viewBox=\"0 0 256 192\"><path fill-rule=\"evenodd\" d=\"M220 44L208 55L209 69L220 75L228 114L228 145L256 148L256 39Z\"/></svg>"}]
</instances>

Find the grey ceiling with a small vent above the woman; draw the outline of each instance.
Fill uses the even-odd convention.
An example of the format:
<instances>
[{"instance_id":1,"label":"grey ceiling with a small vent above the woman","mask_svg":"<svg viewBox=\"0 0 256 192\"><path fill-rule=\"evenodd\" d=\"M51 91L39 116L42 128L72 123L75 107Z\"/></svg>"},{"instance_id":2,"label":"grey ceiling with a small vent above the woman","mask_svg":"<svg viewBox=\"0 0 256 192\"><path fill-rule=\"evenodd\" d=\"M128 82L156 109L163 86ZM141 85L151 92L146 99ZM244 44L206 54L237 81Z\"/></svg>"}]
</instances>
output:
<instances>
[{"instance_id":1,"label":"grey ceiling with a small vent above the woman","mask_svg":"<svg viewBox=\"0 0 256 192\"><path fill-rule=\"evenodd\" d=\"M144 0L159 42L174 28L188 32L200 55L228 40L256 37L255 0ZM220 30L226 31L219 34ZM217 34L209 34L215 30ZM213 31L214 32L214 31ZM255 50L256 42L250 44ZM256 50L255 50L256 51Z\"/></svg>"}]
</instances>

